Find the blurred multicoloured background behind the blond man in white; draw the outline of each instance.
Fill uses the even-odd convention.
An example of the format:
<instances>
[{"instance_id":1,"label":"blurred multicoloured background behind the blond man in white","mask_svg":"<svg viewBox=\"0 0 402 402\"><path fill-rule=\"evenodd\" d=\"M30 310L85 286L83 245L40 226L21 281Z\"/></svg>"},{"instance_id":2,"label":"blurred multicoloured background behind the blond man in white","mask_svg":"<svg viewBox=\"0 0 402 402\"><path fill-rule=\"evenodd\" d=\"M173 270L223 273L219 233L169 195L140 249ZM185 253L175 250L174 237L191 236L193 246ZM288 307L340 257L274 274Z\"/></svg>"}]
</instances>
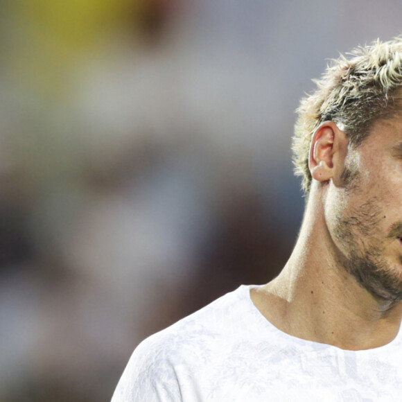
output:
<instances>
[{"instance_id":1,"label":"blurred multicoloured background behind the blond man in white","mask_svg":"<svg viewBox=\"0 0 402 402\"><path fill-rule=\"evenodd\" d=\"M110 401L134 347L295 243L295 109L396 0L0 0L0 401Z\"/></svg>"}]
</instances>

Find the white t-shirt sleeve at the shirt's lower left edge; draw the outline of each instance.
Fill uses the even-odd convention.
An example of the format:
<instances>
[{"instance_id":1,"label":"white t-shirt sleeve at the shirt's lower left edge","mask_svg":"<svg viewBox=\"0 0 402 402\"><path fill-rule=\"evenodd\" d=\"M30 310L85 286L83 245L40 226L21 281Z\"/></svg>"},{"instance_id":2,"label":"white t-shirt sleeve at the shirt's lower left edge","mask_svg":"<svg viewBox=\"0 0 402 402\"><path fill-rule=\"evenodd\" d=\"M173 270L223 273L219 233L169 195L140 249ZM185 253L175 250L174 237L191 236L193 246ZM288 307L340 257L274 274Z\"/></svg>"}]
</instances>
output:
<instances>
[{"instance_id":1,"label":"white t-shirt sleeve at the shirt's lower left edge","mask_svg":"<svg viewBox=\"0 0 402 402\"><path fill-rule=\"evenodd\" d=\"M111 402L181 402L167 342L153 335L134 350Z\"/></svg>"}]
</instances>

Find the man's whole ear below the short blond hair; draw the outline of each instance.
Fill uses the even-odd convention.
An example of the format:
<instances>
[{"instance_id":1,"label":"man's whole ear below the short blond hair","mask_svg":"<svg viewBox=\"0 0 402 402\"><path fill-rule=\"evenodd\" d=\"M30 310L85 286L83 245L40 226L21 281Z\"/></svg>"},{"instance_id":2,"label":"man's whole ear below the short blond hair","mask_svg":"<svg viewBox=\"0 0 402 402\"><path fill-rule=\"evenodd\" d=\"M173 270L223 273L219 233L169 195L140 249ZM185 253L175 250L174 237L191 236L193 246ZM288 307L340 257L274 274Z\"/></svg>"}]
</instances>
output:
<instances>
[{"instance_id":1,"label":"man's whole ear below the short blond hair","mask_svg":"<svg viewBox=\"0 0 402 402\"><path fill-rule=\"evenodd\" d=\"M318 182L326 182L344 169L348 139L333 121L324 121L313 134L308 168Z\"/></svg>"}]
</instances>

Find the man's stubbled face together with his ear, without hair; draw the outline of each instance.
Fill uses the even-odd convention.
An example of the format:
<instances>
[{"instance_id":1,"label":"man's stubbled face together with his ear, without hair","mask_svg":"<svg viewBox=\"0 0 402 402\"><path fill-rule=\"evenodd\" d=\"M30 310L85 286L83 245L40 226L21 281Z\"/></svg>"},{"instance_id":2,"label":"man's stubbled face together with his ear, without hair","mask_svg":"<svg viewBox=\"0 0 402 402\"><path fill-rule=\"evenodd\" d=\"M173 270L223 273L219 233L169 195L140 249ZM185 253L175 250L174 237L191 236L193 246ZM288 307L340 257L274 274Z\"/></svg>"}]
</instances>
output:
<instances>
[{"instance_id":1,"label":"man's stubbled face together with his ear, without hair","mask_svg":"<svg viewBox=\"0 0 402 402\"><path fill-rule=\"evenodd\" d=\"M402 116L380 119L357 148L333 121L313 135L306 222L372 295L402 300ZM349 173L345 173L349 171Z\"/></svg>"}]
</instances>

